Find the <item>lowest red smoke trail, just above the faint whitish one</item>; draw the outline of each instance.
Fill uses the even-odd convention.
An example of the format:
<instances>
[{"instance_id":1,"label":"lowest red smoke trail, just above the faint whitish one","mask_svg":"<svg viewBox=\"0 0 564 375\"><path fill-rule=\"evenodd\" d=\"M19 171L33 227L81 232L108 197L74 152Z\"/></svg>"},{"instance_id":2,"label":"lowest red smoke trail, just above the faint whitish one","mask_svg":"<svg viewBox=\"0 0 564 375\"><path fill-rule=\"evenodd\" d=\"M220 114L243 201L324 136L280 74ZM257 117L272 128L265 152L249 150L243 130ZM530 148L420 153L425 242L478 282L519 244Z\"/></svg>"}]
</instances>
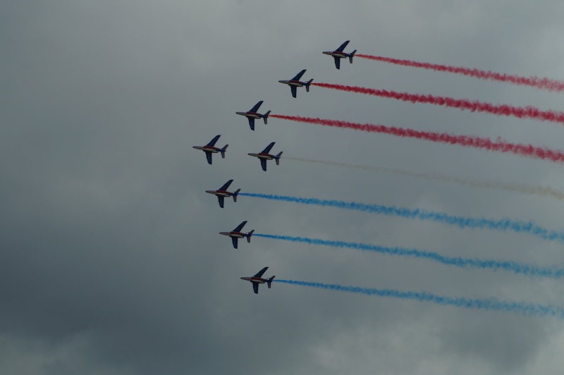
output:
<instances>
[{"instance_id":1,"label":"lowest red smoke trail, just above the faint whitish one","mask_svg":"<svg viewBox=\"0 0 564 375\"><path fill-rule=\"evenodd\" d=\"M505 142L504 140L492 141L487 138L472 137L469 135L450 135L448 133L424 132L421 130L396 128L394 126L349 123L348 121L328 120L324 118L312 118L301 116L270 115L282 120L297 121L300 123L313 123L318 125L335 126L337 128L348 128L362 130L369 133L384 133L396 135L396 137L417 138L418 140L429 140L431 142L450 143L450 145L461 145L490 151L510 152L512 154L529 156L535 159L548 159L556 162L564 161L564 152L546 147L534 147L533 145L521 145Z\"/></svg>"}]
</instances>

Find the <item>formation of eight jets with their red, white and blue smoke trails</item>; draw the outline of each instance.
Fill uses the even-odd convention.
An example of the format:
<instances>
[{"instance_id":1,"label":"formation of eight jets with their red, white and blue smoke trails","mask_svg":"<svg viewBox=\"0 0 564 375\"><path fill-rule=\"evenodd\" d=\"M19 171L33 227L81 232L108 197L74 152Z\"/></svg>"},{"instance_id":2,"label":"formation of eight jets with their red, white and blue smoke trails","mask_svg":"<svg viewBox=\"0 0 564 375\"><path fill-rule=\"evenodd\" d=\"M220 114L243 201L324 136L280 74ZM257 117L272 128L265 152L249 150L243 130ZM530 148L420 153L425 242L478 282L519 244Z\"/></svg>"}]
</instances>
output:
<instances>
[{"instance_id":1,"label":"formation of eight jets with their red, white and blue smoke trails","mask_svg":"<svg viewBox=\"0 0 564 375\"><path fill-rule=\"evenodd\" d=\"M448 72L448 73L458 73L462 75L467 75L474 78L498 80L503 82L510 82L516 85L529 85L530 87L537 87L544 90L552 91L564 91L564 82L557 80L549 80L548 78L522 78L517 75L505 75L502 73L491 73L485 70L477 70L471 68L460 68L451 66L442 66L439 64L431 63L418 63L417 61L400 60L384 58L380 56L367 55L367 54L356 54L357 50L350 53L344 52L345 47L347 47L350 41L345 41L340 47L334 51L323 51L322 54L333 57L335 67L341 69L341 59L349 59L350 63L353 63L353 56L358 56L362 59L368 59L372 61L381 61L385 63L394 63L400 66L410 66L417 68L426 68L436 71ZM420 95L420 94L410 94L407 92L393 92L386 90L376 90L369 89L366 87L357 86L347 86L347 85L334 85L330 83L312 83L313 79L307 81L301 81L302 75L304 75L306 70L301 70L300 73L295 75L291 80L279 80L285 85L290 86L290 91L292 97L296 97L298 87L305 87L306 92L309 92L311 86L324 87L333 90L341 90L345 92L357 92L362 94L375 95L379 97L393 98L403 100L405 102L412 103L427 103L435 104L439 106L450 106L458 109L469 109L470 111L484 111L498 116L515 116L518 118L532 118L539 121L552 121L557 123L564 123L564 113L558 111L540 111L532 106L526 107L515 107L508 104L494 105L484 102L471 102L466 99L453 99L449 97L434 97L431 95ZM428 140L431 142L443 142L450 145L462 145L465 147L482 148L488 151L498 151L498 152L509 152L517 154L520 156L529 156L537 159L548 159L554 162L564 161L564 152L557 149L547 149L546 147L534 147L533 145L522 145L522 144L512 144L497 138L495 141L489 140L488 138L474 137L470 135L450 135L448 133L433 133L426 132L424 130L415 130L407 128L396 128L394 126L384 126L376 124L360 124L351 123L348 121L339 121L331 119L321 119L321 118L307 118L300 116L284 116L278 114L271 114L271 111L266 111L264 114L259 113L259 108L264 101L259 101L255 106L249 111L245 112L235 112L240 116L245 116L248 120L250 130L255 130L255 120L262 120L266 125L268 123L268 118L277 118L286 121L298 121L300 123L312 123L318 125L326 126L336 126L338 128L349 128L355 130L363 130L370 133L384 133L388 135L395 135L397 137L414 137L419 140ZM195 149L200 149L206 154L206 159L208 164L212 164L212 154L221 154L221 157L225 159L226 149L228 145L223 148L216 147L215 144L219 140L221 135L216 135L207 145L205 146L193 146ZM266 172L266 161L274 160L276 165L280 165L280 159L282 152L278 154L271 154L271 149L274 147L276 142L271 142L262 152L258 153L248 153L250 156L255 156L259 159L262 170ZM544 197L552 197L556 199L564 199L564 192L559 192L551 187L539 187L539 186L526 186L526 185L516 185L510 183L488 183L484 181L472 181L464 180L456 177L448 176L438 176L438 175L426 175L423 173L412 173L407 171L399 171L393 168L384 167L371 167L371 166L355 166L353 164L345 164L331 161L321 161L312 159L300 159L300 158L288 158L294 161L306 161L310 163L321 163L329 164L334 166L350 166L352 168L364 168L374 171L384 171L388 173L400 173L405 176L411 176L415 178L425 178L429 180L442 180L444 182L458 183L459 185L467 185L471 187L486 187L486 188L497 188L501 190L523 192L527 194L538 194ZM298 204L314 204L317 206L324 207L336 207L340 209L357 210L364 212L371 212L374 214L384 214L384 215L396 215L403 216L410 219L418 219L425 221L434 221L436 223L450 224L458 226L460 228L472 228L472 229L489 229L489 230L503 230L503 231L513 231L516 233L528 233L537 236L542 240L548 241L558 241L564 242L564 231L551 230L549 228L543 228L538 226L532 221L518 221L510 219L484 219L475 217L462 217L454 216L441 212L425 211L422 209L408 209L406 207L386 207L379 204L364 204L360 202L345 202L338 200L329 199L317 199L317 198L303 198L303 197L288 197L282 195L268 195L268 194L258 194L249 192L240 192L241 189L237 189L234 192L229 192L228 188L233 183L233 180L228 180L217 190L206 190L205 192L215 195L218 199L219 207L223 209L224 200L227 197L232 197L233 202L237 202L237 197L255 197L262 199L274 199L283 202L295 202ZM238 240L246 238L247 242L251 241L251 236L255 233L255 230L250 230L250 232L243 232L243 227L247 221L243 221L233 230L220 232L221 235L226 235L231 237L231 242L235 249L238 248ZM448 257L436 252L431 252L427 250L418 250L415 248L408 249L403 247L384 247L380 245L363 244L359 242L344 242L344 241L331 241L322 240L317 238L300 238L293 237L289 235L276 235L276 234L264 234L256 233L255 236L259 238L268 238L271 240L286 240L290 242L302 242L309 245L324 245L329 247L341 247L353 250L361 250L364 252L378 252L382 254L389 254L396 257L412 257L417 259L427 259L444 266L455 266L461 269L491 269L496 271L502 269L505 271L512 271L517 274L529 275L529 276L540 276L545 278L563 278L564 269L558 268L556 266L537 266L537 264L525 264L520 262L515 262L511 260L494 260L494 259L477 259L477 258L463 258L463 257ZM271 288L271 283L275 282L274 277L263 278L263 274L269 267L262 268L254 276L241 277L242 280L250 281L252 284L252 290L255 294L259 293L259 285L266 283L268 288ZM392 290L392 289L376 289L376 288L362 288L362 287L352 287L346 285L338 284L327 284L327 283L314 283L309 281L294 281L294 280L276 280L279 283L286 283L290 285L301 285L313 288L321 288L326 290L337 290L345 291L348 293L360 293L364 295L376 295L379 297L396 297L400 299L416 300L419 302L434 302L439 305L451 305L456 307L463 307L467 309L489 309L501 312L513 312L517 314L527 315L527 316L556 316L558 318L564 319L564 307L553 306L553 305L539 305L530 302L515 302L515 301L503 301L497 300L494 297L483 298L483 299L469 299L465 297L449 297L434 295L429 292L410 292L402 290Z\"/></svg>"}]
</instances>

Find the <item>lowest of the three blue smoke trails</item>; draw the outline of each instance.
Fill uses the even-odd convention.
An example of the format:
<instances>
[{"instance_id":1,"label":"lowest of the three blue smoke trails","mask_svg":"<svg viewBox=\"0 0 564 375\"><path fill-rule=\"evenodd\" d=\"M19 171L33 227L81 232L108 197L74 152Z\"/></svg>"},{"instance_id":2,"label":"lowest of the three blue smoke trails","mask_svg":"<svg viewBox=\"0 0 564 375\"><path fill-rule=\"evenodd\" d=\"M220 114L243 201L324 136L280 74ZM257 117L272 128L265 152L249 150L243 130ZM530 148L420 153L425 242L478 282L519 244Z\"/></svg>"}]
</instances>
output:
<instances>
[{"instance_id":1,"label":"lowest of the three blue smoke trails","mask_svg":"<svg viewBox=\"0 0 564 375\"><path fill-rule=\"evenodd\" d=\"M364 295L376 295L378 297L394 297L402 300L415 300L419 302L433 302L437 305L464 307L465 309L483 309L499 312L513 312L525 316L555 316L564 318L564 309L553 305L540 305L531 302L512 302L498 300L497 298L465 298L448 297L446 295L435 295L429 292L410 292L393 289L361 288L358 286L346 286L338 284L312 283L310 281L298 280L273 280L276 283L309 286L310 288L321 288L336 290L338 292L359 293Z\"/></svg>"}]
</instances>

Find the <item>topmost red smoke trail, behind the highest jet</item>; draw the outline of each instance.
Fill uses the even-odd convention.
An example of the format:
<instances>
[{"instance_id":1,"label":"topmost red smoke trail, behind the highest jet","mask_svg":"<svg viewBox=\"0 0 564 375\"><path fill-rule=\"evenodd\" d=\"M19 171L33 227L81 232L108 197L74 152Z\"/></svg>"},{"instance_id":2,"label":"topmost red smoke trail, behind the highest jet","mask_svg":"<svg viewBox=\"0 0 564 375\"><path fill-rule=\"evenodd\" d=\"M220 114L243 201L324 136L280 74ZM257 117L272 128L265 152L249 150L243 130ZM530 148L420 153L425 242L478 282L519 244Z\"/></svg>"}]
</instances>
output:
<instances>
[{"instance_id":1,"label":"topmost red smoke trail, behind the highest jet","mask_svg":"<svg viewBox=\"0 0 564 375\"><path fill-rule=\"evenodd\" d=\"M548 91L564 91L564 82L559 80L551 80L548 78L538 77L520 77L519 75L496 73L490 70L479 70L473 68L462 68L460 66L448 66L433 63L419 63L411 60L392 59L391 57L381 57L373 55L356 54L356 57L362 59L382 61L384 63L393 63L400 66L411 66L413 68L424 68L429 70L438 70L440 72L456 73L467 75L469 77L481 78L482 80L495 80L501 82L510 82L515 85L525 85L537 87Z\"/></svg>"}]
</instances>

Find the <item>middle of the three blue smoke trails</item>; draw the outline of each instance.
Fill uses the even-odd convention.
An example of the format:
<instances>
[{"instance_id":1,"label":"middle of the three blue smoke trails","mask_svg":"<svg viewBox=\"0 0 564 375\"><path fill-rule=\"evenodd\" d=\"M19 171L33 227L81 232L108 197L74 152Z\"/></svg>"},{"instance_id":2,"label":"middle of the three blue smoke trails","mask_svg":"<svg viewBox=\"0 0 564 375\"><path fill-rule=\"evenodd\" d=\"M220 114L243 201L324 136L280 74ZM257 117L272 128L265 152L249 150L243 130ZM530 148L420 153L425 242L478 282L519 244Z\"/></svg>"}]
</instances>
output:
<instances>
[{"instance_id":1,"label":"middle of the three blue smoke trails","mask_svg":"<svg viewBox=\"0 0 564 375\"><path fill-rule=\"evenodd\" d=\"M512 261L497 261L489 259L468 259L461 257L446 257L436 252L427 252L417 249L405 249L403 247L384 247L379 245L369 245L357 242L343 242L331 240L319 240L317 238L304 238L304 237L290 237L289 235L269 235L255 233L257 237L271 238L273 240L285 240L292 242L303 242L308 245L324 245L331 247L346 247L348 249L380 252L382 254L390 254L399 257L414 257L420 259L430 259L441 264L449 266L456 266L463 269L477 268L477 269L492 269L497 271L511 271L517 274L521 273L528 276L541 276L546 278L562 278L564 276L564 269L557 269L556 267L539 267L534 264L520 264Z\"/></svg>"}]
</instances>

